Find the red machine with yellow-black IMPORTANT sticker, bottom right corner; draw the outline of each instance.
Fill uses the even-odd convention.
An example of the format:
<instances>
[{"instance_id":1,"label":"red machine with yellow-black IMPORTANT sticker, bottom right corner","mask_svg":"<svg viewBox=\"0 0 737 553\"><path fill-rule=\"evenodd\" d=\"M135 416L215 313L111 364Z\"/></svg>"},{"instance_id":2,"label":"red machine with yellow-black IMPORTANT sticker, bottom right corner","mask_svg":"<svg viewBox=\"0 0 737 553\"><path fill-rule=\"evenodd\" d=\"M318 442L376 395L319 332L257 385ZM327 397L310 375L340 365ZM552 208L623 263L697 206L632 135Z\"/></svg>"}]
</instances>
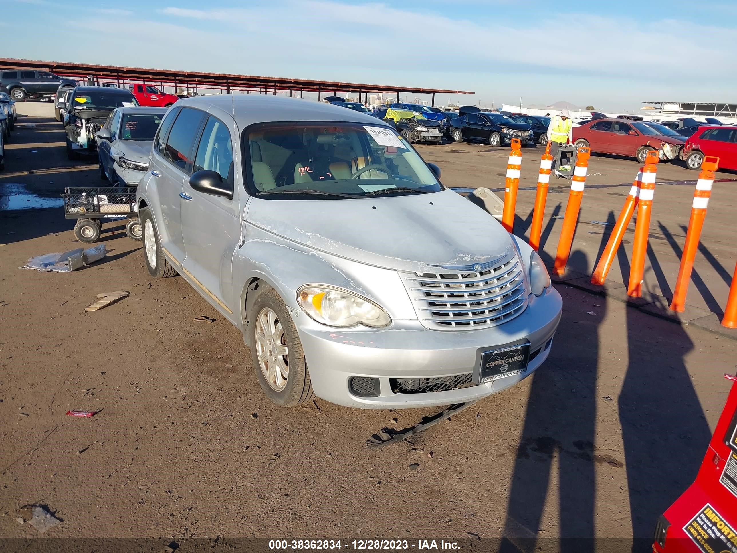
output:
<instances>
[{"instance_id":1,"label":"red machine with yellow-black IMPORTANT sticker, bottom right corner","mask_svg":"<svg viewBox=\"0 0 737 553\"><path fill-rule=\"evenodd\" d=\"M737 377L696 480L655 526L654 553L737 553Z\"/></svg>"}]
</instances>

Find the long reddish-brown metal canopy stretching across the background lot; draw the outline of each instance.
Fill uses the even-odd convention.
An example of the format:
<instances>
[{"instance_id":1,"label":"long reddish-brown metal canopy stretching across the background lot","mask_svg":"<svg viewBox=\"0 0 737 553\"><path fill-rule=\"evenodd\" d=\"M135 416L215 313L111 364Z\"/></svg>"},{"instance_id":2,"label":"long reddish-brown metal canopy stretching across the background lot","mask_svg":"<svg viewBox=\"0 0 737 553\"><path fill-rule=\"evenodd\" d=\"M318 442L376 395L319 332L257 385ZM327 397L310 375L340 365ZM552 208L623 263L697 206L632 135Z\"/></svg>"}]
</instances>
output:
<instances>
[{"instance_id":1,"label":"long reddish-brown metal canopy stretching across the background lot","mask_svg":"<svg viewBox=\"0 0 737 553\"><path fill-rule=\"evenodd\" d=\"M227 73L206 73L196 71L175 71L173 69L146 69L142 67L98 66L88 63L71 63L65 61L21 60L0 58L0 69L45 69L65 77L86 80L88 77L96 83L112 81L117 86L125 83L150 83L164 86L190 88L208 88L230 93L231 91L259 92L260 94L276 94L278 91L316 92L318 100L323 93L356 92L361 94L374 92L432 94L435 105L436 94L474 94L464 90L444 90L442 88L416 88L412 86L375 85L366 83L342 83L329 80L290 79L284 77L259 77L256 75L239 75Z\"/></svg>"}]
</instances>

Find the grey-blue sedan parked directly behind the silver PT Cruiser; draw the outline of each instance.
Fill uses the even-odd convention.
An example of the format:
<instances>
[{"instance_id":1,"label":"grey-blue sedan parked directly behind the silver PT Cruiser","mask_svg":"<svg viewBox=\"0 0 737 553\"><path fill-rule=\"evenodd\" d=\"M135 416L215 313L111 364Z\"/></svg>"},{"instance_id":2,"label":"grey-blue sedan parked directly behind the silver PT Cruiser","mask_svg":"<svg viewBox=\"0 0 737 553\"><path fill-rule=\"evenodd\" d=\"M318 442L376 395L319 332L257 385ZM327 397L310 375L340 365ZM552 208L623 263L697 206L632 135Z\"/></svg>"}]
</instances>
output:
<instances>
[{"instance_id":1,"label":"grey-blue sedan parked directly behind the silver PT Cruiser","mask_svg":"<svg viewBox=\"0 0 737 553\"><path fill-rule=\"evenodd\" d=\"M99 178L116 186L138 186L148 170L153 137L168 108L115 108L97 131Z\"/></svg>"}]
</instances>

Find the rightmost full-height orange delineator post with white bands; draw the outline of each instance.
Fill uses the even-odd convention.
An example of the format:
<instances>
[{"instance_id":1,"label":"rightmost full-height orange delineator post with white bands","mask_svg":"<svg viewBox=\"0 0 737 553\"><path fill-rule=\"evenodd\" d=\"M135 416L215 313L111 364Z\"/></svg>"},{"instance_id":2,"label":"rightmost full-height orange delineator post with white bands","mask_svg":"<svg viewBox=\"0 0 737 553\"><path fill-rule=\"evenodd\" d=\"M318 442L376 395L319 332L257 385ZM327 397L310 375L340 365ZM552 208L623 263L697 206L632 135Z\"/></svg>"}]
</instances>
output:
<instances>
[{"instance_id":1,"label":"rightmost full-height orange delineator post with white bands","mask_svg":"<svg viewBox=\"0 0 737 553\"><path fill-rule=\"evenodd\" d=\"M672 311L681 312L686 307L688 282L691 280L691 270L694 268L694 258L696 257L696 250L699 248L701 229L706 218L706 206L709 204L711 185L714 182L714 171L717 167L719 167L719 158L714 156L706 156L701 164L701 173L699 173L699 180L696 181L696 189L694 190L694 202L691 204L691 218L688 220L686 241L681 255L681 266L678 269L678 279L671 301Z\"/></svg>"}]
</instances>

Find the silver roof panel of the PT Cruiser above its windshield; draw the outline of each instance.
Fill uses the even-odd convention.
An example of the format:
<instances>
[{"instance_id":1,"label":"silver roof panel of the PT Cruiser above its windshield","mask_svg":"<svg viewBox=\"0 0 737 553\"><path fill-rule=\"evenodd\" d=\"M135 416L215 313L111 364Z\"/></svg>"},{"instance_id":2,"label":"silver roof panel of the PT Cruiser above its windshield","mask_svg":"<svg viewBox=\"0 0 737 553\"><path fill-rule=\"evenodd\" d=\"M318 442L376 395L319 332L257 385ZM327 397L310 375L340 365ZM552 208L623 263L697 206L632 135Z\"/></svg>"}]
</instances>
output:
<instances>
[{"instance_id":1,"label":"silver roof panel of the PT Cruiser above its windshield","mask_svg":"<svg viewBox=\"0 0 737 553\"><path fill-rule=\"evenodd\" d=\"M179 100L177 105L204 111L218 108L230 114L240 128L268 121L347 121L377 125L376 117L340 105L268 94L196 96Z\"/></svg>"}]
</instances>

